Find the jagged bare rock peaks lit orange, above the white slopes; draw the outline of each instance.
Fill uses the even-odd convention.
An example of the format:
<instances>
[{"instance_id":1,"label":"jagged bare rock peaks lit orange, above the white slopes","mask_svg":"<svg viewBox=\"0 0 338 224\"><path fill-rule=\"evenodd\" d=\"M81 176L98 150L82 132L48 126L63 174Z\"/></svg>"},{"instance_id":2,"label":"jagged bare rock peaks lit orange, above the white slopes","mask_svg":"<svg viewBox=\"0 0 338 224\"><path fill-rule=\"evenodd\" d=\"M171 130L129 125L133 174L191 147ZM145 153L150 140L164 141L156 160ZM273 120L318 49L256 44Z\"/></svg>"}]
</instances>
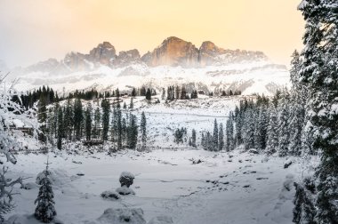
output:
<instances>
[{"instance_id":1,"label":"jagged bare rock peaks lit orange, above the white slopes","mask_svg":"<svg viewBox=\"0 0 338 224\"><path fill-rule=\"evenodd\" d=\"M152 52L140 55L137 49L121 51L117 54L114 45L103 42L88 54L69 52L63 60L49 59L38 62L21 73L50 72L52 75L67 74L75 71L89 71L100 66L122 68L133 64L146 64L149 67L181 66L200 68L205 66L228 64L241 61L267 60L263 52L224 50L210 41L197 48L194 44L178 37L166 38Z\"/></svg>"}]
</instances>

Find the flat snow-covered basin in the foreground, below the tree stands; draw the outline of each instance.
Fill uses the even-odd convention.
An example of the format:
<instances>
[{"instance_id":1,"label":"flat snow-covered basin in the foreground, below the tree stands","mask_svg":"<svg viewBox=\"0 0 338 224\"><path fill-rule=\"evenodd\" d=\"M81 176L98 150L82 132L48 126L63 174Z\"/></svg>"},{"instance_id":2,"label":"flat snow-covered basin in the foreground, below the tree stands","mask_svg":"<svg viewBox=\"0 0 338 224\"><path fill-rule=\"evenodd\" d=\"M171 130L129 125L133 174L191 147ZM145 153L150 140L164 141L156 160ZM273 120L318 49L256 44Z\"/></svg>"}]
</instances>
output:
<instances>
[{"instance_id":1,"label":"flat snow-covered basin in the foreground, below the tree stands","mask_svg":"<svg viewBox=\"0 0 338 224\"><path fill-rule=\"evenodd\" d=\"M200 164L193 161L201 160ZM204 150L122 151L74 155L49 154L58 220L84 223L97 220L107 208L141 208L145 220L159 215L173 223L291 223L293 180L299 180L301 161L284 169L286 158L249 152ZM38 223L34 213L46 155L19 155L11 176L31 177L32 189L19 189L14 211L17 222ZM101 198L105 190L119 186L121 172L133 172L135 196L119 200ZM78 176L77 174L84 174ZM20 222L20 221L21 222ZM95 222L93 222L95 223ZM101 222L97 222L101 223Z\"/></svg>"}]
</instances>

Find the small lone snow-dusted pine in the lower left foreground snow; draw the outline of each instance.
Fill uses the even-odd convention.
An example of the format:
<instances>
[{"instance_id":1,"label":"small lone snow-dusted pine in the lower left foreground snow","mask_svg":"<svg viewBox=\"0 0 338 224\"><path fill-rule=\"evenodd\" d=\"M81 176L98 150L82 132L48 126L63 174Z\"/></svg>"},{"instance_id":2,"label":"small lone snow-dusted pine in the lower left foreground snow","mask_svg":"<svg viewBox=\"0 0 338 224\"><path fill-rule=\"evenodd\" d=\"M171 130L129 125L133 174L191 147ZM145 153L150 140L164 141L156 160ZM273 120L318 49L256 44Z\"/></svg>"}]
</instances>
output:
<instances>
[{"instance_id":1,"label":"small lone snow-dusted pine in the lower left foreground snow","mask_svg":"<svg viewBox=\"0 0 338 224\"><path fill-rule=\"evenodd\" d=\"M48 165L47 161L44 178L41 180L41 187L35 201L35 204L37 203L35 212L36 219L44 223L51 222L54 216L56 216L54 193L52 192L52 181L49 179Z\"/></svg>"}]
</instances>

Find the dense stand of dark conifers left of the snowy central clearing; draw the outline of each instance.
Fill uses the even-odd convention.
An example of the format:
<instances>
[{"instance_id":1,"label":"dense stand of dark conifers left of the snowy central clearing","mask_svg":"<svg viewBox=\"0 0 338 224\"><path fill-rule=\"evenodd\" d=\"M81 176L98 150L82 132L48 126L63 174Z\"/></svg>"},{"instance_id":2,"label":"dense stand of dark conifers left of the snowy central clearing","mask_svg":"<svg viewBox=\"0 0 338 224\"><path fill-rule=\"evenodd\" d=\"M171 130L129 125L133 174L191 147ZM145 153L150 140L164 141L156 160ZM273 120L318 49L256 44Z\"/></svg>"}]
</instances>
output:
<instances>
[{"instance_id":1,"label":"dense stand of dark conifers left of the snowy central clearing","mask_svg":"<svg viewBox=\"0 0 338 224\"><path fill-rule=\"evenodd\" d=\"M67 141L111 141L115 150L136 148L138 140L141 148L146 147L147 121L144 113L141 121L137 116L120 106L117 97L112 102L103 98L92 104L76 98L68 99L61 106L59 102L47 109L44 101L38 103L38 121L43 134L40 140L54 140L57 148ZM133 98L129 108L133 108ZM139 132L141 137L139 138Z\"/></svg>"}]
</instances>

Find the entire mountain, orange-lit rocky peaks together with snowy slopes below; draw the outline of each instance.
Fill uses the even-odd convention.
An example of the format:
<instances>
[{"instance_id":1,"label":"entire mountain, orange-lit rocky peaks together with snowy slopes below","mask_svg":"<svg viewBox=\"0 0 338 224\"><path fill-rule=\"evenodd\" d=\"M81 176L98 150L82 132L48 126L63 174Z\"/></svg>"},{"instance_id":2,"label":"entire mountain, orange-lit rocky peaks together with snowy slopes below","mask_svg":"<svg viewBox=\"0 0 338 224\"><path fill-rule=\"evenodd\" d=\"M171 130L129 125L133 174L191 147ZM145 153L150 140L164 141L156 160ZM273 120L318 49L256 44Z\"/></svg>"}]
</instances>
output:
<instances>
[{"instance_id":1,"label":"entire mountain, orange-lit rocky peaks together with snowy slopes below","mask_svg":"<svg viewBox=\"0 0 338 224\"><path fill-rule=\"evenodd\" d=\"M143 56L136 49L117 54L103 42L89 53L70 52L63 60L49 59L12 72L20 77L17 88L26 91L50 85L71 92L96 88L130 91L146 85L160 90L173 84L205 92L221 90L272 94L289 84L285 66L270 62L263 52L224 50L210 41L199 48L171 36Z\"/></svg>"}]
</instances>

